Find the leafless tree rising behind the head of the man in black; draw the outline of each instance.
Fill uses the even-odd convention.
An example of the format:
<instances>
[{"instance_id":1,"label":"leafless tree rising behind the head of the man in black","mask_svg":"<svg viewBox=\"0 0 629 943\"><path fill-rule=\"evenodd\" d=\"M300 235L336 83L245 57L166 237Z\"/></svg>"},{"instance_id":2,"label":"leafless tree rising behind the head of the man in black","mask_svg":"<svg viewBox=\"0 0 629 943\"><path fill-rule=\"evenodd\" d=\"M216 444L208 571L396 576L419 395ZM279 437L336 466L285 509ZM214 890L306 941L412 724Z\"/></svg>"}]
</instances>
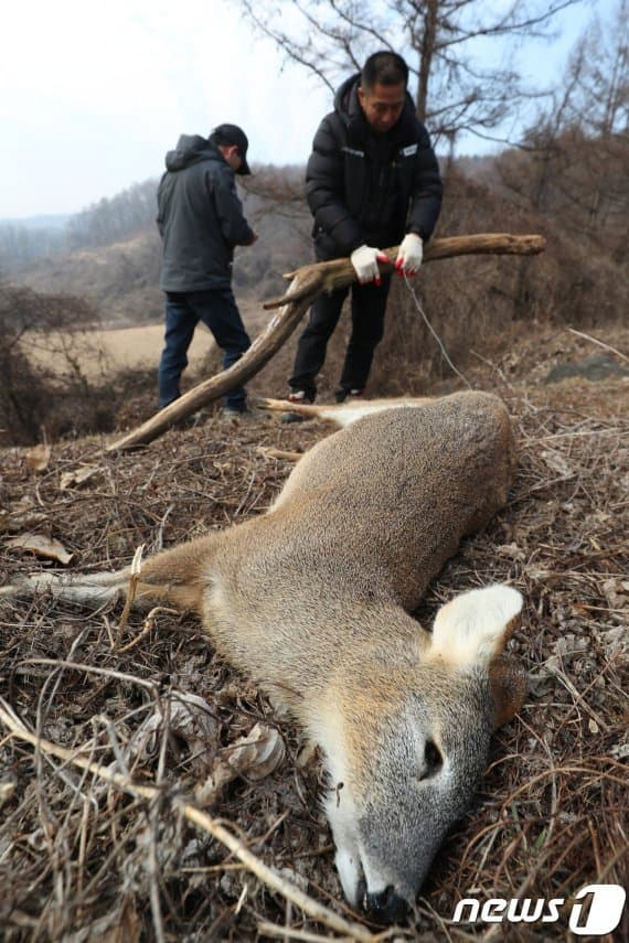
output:
<instances>
[{"instance_id":1,"label":"leafless tree rising behind the head of the man in black","mask_svg":"<svg viewBox=\"0 0 629 943\"><path fill-rule=\"evenodd\" d=\"M556 13L582 0L515 0L508 6L486 0L237 2L289 60L330 88L379 49L403 54L415 79L418 116L435 142L454 150L461 132L492 137L525 99L539 94L525 89L507 56L518 41L548 37ZM507 40L512 42L501 43Z\"/></svg>"}]
</instances>

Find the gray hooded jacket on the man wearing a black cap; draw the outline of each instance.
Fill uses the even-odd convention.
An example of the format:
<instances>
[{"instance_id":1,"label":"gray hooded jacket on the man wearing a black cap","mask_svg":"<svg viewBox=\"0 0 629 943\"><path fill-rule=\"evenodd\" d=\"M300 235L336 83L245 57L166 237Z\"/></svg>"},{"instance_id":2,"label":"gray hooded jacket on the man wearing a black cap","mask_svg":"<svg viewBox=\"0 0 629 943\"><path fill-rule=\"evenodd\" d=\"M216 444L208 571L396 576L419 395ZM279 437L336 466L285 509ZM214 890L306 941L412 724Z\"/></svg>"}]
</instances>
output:
<instances>
[{"instance_id":1,"label":"gray hooded jacket on the man wearing a black cap","mask_svg":"<svg viewBox=\"0 0 629 943\"><path fill-rule=\"evenodd\" d=\"M182 135L166 156L157 223L163 239L160 288L205 291L232 281L234 246L254 234L243 216L234 173L199 135Z\"/></svg>"}]
</instances>

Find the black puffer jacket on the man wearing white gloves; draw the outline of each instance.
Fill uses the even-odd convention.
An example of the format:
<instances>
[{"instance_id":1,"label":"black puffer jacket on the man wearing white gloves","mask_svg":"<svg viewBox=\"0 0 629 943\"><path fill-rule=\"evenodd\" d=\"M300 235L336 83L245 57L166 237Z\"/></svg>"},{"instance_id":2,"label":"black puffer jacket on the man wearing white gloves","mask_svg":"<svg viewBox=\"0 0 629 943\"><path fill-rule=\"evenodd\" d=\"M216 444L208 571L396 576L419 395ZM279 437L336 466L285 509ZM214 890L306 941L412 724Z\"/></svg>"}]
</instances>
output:
<instances>
[{"instance_id":1,"label":"black puffer jacket on the man wearing white gloves","mask_svg":"<svg viewBox=\"0 0 629 943\"><path fill-rule=\"evenodd\" d=\"M319 259L367 244L386 248L405 233L428 239L441 208L437 158L406 96L399 120L376 135L361 108L360 74L341 85L321 121L306 170Z\"/></svg>"}]
</instances>

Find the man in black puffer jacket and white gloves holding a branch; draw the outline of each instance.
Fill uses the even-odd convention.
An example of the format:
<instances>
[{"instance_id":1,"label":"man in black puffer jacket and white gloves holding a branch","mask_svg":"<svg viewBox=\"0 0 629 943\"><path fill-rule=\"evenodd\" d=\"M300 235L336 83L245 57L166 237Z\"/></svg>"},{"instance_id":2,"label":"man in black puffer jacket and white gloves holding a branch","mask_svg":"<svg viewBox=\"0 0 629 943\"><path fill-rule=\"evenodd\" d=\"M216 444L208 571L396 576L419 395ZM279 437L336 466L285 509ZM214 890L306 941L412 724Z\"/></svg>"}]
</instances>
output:
<instances>
[{"instance_id":1,"label":"man in black puffer jacket and white gloves holding a branch","mask_svg":"<svg viewBox=\"0 0 629 943\"><path fill-rule=\"evenodd\" d=\"M338 401L362 395L384 331L391 276L379 272L381 249L401 244L395 269L415 275L441 207L439 167L407 83L401 56L370 56L362 73L337 92L306 171L317 259L350 256L359 280L352 286L352 334ZM312 306L289 379L294 403L317 395L317 374L348 291L323 294Z\"/></svg>"}]
</instances>

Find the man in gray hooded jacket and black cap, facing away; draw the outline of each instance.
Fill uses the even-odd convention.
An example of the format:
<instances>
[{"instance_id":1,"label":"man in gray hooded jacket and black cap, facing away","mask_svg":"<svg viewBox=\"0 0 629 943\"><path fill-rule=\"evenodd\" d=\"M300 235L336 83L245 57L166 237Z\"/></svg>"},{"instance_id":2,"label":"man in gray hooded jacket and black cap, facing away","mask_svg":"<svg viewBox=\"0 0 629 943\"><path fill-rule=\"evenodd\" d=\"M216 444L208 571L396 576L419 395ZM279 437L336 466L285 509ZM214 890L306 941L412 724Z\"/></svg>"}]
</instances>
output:
<instances>
[{"instance_id":1,"label":"man in gray hooded jacket and black cap, facing away","mask_svg":"<svg viewBox=\"0 0 629 943\"><path fill-rule=\"evenodd\" d=\"M182 135L166 156L157 218L163 242L160 288L166 292L160 409L181 395L179 382L199 321L223 351L225 369L250 346L232 291L234 247L250 246L257 238L234 181L235 173L250 173L247 147L241 128L220 125L207 139ZM243 387L227 394L225 410L247 412Z\"/></svg>"}]
</instances>

